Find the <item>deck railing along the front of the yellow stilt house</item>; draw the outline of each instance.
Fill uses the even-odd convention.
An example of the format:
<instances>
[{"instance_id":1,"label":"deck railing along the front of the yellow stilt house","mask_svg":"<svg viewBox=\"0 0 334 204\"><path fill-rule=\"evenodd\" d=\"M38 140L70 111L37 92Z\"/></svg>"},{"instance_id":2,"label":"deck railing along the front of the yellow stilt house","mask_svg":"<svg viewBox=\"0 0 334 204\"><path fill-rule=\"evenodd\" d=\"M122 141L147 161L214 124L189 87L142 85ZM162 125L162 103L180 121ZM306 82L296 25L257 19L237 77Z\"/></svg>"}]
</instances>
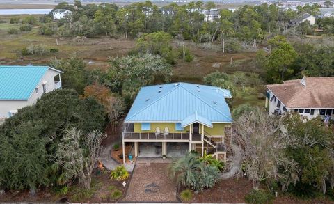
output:
<instances>
[{"instance_id":1,"label":"deck railing along the front of the yellow stilt house","mask_svg":"<svg viewBox=\"0 0 334 204\"><path fill-rule=\"evenodd\" d=\"M202 141L202 134L191 134L189 139L189 133L173 133L168 134L155 132L123 132L123 139L141 140L141 139L163 139L163 140L191 140Z\"/></svg>"}]
</instances>

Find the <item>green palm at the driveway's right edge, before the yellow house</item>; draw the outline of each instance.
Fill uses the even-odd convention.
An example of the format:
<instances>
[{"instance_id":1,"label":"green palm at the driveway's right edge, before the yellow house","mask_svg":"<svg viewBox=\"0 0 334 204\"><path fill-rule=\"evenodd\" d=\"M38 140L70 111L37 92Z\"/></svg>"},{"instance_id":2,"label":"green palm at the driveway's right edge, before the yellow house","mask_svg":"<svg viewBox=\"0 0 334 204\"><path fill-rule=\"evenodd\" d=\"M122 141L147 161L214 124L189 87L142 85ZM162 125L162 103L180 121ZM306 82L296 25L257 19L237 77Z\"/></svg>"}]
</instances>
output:
<instances>
[{"instance_id":1,"label":"green palm at the driveway's right edge, before the yellow house","mask_svg":"<svg viewBox=\"0 0 334 204\"><path fill-rule=\"evenodd\" d=\"M193 173L203 170L203 162L200 162L198 155L193 152L189 152L188 155L174 161L170 165L170 175L172 178L177 178L177 185L188 186Z\"/></svg>"}]
</instances>

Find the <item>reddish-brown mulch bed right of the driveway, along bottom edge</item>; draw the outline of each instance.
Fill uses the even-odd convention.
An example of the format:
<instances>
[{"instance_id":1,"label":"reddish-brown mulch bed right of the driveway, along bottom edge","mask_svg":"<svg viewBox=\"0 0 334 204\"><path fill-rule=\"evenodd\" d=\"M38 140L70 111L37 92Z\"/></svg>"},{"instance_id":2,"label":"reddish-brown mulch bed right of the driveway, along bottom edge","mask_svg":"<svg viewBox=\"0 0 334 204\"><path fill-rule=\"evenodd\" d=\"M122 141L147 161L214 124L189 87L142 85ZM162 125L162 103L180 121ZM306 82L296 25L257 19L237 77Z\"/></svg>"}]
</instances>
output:
<instances>
[{"instance_id":1,"label":"reddish-brown mulch bed right of the driveway, along bottom edge","mask_svg":"<svg viewBox=\"0 0 334 204\"><path fill-rule=\"evenodd\" d=\"M194 194L191 203L244 203L252 188L252 182L245 178L221 180L212 189Z\"/></svg>"}]
</instances>

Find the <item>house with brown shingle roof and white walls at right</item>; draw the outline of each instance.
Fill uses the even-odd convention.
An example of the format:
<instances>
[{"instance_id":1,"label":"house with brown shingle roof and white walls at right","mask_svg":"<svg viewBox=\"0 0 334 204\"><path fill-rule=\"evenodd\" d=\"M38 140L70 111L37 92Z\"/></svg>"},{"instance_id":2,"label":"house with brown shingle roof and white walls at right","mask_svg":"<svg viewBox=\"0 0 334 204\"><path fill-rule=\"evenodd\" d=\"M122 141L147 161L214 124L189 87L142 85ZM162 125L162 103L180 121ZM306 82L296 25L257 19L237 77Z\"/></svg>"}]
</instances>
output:
<instances>
[{"instance_id":1,"label":"house with brown shingle roof and white walls at right","mask_svg":"<svg viewBox=\"0 0 334 204\"><path fill-rule=\"evenodd\" d=\"M287 111L308 118L334 115L334 77L304 77L267 85L269 115Z\"/></svg>"}]
</instances>

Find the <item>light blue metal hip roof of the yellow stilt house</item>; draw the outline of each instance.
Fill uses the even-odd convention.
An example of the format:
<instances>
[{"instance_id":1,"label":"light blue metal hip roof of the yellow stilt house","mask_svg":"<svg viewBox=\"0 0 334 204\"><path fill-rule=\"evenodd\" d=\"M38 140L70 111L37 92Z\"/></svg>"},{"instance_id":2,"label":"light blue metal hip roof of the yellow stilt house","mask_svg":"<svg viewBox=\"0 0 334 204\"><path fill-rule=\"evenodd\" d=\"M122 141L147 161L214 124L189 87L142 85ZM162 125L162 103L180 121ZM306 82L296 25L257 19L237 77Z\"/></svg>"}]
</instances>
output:
<instances>
[{"instance_id":1,"label":"light blue metal hip roof of the yellow stilt house","mask_svg":"<svg viewBox=\"0 0 334 204\"><path fill-rule=\"evenodd\" d=\"M216 86L175 83L145 86L139 91L125 123L231 123L225 98L231 93Z\"/></svg>"}]
</instances>

